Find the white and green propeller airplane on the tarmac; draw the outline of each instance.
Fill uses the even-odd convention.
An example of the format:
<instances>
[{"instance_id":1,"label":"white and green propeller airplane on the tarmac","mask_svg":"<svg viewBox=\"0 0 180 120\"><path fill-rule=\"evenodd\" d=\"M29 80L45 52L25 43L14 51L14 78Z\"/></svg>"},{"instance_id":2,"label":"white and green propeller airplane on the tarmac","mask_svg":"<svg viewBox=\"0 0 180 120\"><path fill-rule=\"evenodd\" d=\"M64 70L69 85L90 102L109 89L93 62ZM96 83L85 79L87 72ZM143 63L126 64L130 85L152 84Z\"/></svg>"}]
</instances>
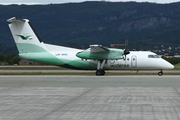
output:
<instances>
[{"instance_id":1,"label":"white and green propeller airplane on the tarmac","mask_svg":"<svg viewBox=\"0 0 180 120\"><path fill-rule=\"evenodd\" d=\"M174 66L157 54L149 51L128 51L90 45L86 50L43 43L28 19L12 17L9 28L19 51L19 56L30 61L79 70L96 70L96 75L105 75L105 70L163 70Z\"/></svg>"}]
</instances>

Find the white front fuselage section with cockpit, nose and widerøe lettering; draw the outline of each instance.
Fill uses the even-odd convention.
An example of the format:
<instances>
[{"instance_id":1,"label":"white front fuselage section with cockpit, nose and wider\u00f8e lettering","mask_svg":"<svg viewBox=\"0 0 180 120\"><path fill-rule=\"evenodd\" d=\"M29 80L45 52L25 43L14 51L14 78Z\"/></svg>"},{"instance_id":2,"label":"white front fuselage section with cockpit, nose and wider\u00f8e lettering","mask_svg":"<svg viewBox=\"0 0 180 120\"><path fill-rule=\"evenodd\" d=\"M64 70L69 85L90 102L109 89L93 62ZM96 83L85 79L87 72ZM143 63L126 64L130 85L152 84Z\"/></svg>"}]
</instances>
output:
<instances>
[{"instance_id":1,"label":"white front fuselage section with cockpit, nose and wider\u00f8e lettering","mask_svg":"<svg viewBox=\"0 0 180 120\"><path fill-rule=\"evenodd\" d=\"M131 51L126 60L109 60L107 67L109 69L124 70L164 70L174 68L172 64L158 57L155 53L146 51Z\"/></svg>"}]
</instances>

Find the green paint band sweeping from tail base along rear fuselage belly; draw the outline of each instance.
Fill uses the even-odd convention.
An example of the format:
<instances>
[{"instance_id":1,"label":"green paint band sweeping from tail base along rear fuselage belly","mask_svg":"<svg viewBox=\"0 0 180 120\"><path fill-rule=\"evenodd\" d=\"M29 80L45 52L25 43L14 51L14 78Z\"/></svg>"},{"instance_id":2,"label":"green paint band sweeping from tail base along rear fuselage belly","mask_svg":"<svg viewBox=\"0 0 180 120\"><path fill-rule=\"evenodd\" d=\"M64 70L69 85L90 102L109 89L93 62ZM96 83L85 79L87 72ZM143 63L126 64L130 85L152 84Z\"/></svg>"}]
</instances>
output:
<instances>
[{"instance_id":1,"label":"green paint band sweeping from tail base along rear fuselage belly","mask_svg":"<svg viewBox=\"0 0 180 120\"><path fill-rule=\"evenodd\" d=\"M37 61L40 63L56 65L71 69L95 70L97 68L97 65L95 63L89 61L82 61L81 59L59 59L47 50L34 44L17 43L17 47L18 49L23 49L19 53L19 56L30 61Z\"/></svg>"}]
</instances>

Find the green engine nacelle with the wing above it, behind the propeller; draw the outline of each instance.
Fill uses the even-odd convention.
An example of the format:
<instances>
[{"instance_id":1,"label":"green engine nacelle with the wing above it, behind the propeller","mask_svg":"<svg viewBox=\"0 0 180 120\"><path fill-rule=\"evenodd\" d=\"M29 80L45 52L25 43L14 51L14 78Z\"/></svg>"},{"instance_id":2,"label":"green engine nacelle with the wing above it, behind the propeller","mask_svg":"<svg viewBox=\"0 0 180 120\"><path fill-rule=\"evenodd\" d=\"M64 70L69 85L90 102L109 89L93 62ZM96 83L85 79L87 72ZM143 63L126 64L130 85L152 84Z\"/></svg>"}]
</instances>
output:
<instances>
[{"instance_id":1,"label":"green engine nacelle with the wing above it, behind the propeller","mask_svg":"<svg viewBox=\"0 0 180 120\"><path fill-rule=\"evenodd\" d=\"M117 60L123 59L124 50L106 48L101 45L90 45L90 48L76 54L81 59Z\"/></svg>"}]
</instances>

